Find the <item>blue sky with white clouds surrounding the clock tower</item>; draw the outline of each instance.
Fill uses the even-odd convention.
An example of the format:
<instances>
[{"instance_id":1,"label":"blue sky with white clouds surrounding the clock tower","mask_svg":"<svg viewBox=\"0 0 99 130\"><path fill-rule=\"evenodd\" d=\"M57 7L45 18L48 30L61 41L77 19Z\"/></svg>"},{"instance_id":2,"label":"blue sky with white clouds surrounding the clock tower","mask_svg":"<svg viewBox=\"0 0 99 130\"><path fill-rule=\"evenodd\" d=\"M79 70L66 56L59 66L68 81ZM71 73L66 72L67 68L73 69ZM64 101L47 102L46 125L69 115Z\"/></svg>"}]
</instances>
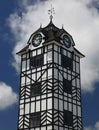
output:
<instances>
[{"instance_id":1,"label":"blue sky with white clouds surrounding the clock tower","mask_svg":"<svg viewBox=\"0 0 99 130\"><path fill-rule=\"evenodd\" d=\"M0 1L0 130L17 130L20 57L30 35L49 23L69 32L81 59L84 130L99 130L99 0Z\"/></svg>"}]
</instances>

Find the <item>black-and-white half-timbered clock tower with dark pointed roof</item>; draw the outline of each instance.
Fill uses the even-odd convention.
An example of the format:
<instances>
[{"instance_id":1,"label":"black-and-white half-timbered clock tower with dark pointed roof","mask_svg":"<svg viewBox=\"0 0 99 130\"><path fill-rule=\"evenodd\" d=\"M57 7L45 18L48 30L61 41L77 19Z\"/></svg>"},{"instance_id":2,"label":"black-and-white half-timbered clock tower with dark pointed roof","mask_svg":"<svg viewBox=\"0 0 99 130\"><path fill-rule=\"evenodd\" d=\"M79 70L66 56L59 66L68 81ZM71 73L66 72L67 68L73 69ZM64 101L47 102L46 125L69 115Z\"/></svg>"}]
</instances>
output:
<instances>
[{"instance_id":1,"label":"black-and-white half-timbered clock tower with dark pointed roof","mask_svg":"<svg viewBox=\"0 0 99 130\"><path fill-rule=\"evenodd\" d=\"M18 130L82 130L80 59L72 36L50 23L21 56Z\"/></svg>"}]
</instances>

